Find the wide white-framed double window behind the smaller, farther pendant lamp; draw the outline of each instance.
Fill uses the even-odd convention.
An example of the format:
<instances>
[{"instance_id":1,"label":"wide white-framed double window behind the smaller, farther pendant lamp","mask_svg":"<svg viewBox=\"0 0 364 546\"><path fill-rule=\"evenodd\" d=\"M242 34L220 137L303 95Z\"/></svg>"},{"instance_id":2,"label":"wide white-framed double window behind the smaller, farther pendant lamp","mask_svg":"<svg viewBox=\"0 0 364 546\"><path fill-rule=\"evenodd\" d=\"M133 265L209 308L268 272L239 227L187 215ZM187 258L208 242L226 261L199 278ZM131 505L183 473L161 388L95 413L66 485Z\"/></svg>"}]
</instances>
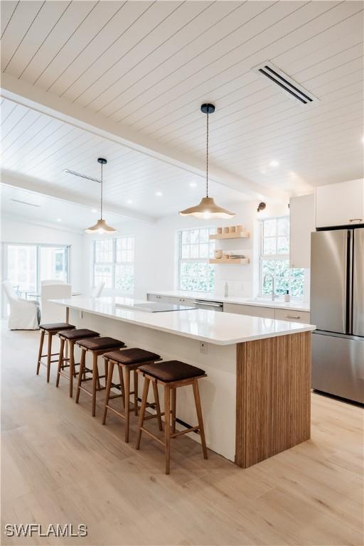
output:
<instances>
[{"instance_id":1,"label":"wide white-framed double window behind the smaller, farther pendant lamp","mask_svg":"<svg viewBox=\"0 0 364 546\"><path fill-rule=\"evenodd\" d=\"M94 245L93 284L134 292L134 237L97 240Z\"/></svg>"}]
</instances>

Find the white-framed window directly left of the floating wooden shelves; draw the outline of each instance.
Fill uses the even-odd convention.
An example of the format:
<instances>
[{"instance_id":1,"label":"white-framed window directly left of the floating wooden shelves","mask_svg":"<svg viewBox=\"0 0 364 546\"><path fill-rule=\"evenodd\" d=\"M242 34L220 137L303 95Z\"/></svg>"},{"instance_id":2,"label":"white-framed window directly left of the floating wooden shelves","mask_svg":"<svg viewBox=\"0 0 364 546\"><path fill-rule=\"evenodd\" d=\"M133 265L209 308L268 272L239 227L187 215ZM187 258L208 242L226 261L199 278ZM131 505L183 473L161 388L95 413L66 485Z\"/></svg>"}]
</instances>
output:
<instances>
[{"instance_id":1,"label":"white-framed window directly left of the floating wooden shelves","mask_svg":"<svg viewBox=\"0 0 364 546\"><path fill-rule=\"evenodd\" d=\"M209 235L214 228L178 232L178 288L213 292L215 267L208 263L214 257L215 240Z\"/></svg>"}]
</instances>

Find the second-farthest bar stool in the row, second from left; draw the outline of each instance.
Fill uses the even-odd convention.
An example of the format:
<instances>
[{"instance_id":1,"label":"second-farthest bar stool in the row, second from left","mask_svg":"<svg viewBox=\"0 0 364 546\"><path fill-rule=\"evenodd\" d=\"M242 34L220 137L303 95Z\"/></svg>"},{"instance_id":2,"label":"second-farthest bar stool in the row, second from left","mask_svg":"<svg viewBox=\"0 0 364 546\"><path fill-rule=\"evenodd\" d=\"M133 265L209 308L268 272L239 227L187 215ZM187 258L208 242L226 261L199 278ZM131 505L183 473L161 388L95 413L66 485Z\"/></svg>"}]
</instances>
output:
<instances>
[{"instance_id":1,"label":"second-farthest bar stool in the row, second from left","mask_svg":"<svg viewBox=\"0 0 364 546\"><path fill-rule=\"evenodd\" d=\"M70 381L70 397L73 397L73 378L76 377L77 373L75 371L75 366L80 363L75 363L75 343L80 341L80 339L86 338L97 338L100 336L100 333L93 330L87 330L87 328L74 328L73 330L61 330L58 332L58 337L60 338L60 357L58 359L58 372L57 372L57 381L55 386L58 387L60 384L60 376L66 378ZM65 358L64 350L65 343L68 341L68 347L70 348L70 358ZM69 364L65 364L69 362ZM69 374L64 373L65 368L70 368Z\"/></svg>"}]
</instances>

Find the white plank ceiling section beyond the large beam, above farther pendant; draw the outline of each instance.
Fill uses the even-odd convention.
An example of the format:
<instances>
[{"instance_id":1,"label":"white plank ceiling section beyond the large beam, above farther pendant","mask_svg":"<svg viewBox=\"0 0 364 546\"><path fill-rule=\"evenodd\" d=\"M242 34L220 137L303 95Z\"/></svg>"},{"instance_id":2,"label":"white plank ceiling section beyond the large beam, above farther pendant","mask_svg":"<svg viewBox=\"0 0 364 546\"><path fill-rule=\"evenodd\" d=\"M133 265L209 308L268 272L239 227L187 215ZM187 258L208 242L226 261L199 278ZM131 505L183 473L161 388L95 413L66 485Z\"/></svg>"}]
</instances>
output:
<instances>
[{"instance_id":1,"label":"white plank ceiling section beyond the large beam, above farther pendant","mask_svg":"<svg viewBox=\"0 0 364 546\"><path fill-rule=\"evenodd\" d=\"M105 157L104 206L136 210L154 218L196 204L205 191L205 180L183 168L129 149L60 122L16 102L1 102L1 169L3 178L16 175L41 184L45 194L55 189L64 198L92 200L98 207L97 182L65 173L68 168L100 178L98 157ZM211 182L210 191L219 202L246 200L244 193Z\"/></svg>"}]
</instances>

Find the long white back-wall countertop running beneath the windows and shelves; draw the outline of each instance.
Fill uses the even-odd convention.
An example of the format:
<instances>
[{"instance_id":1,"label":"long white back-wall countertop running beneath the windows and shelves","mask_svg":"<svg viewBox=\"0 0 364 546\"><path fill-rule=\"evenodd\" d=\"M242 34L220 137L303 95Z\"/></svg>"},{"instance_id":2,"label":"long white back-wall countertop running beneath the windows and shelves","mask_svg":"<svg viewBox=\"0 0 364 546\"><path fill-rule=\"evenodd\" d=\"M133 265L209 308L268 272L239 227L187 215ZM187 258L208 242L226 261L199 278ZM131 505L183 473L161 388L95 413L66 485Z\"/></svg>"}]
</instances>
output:
<instances>
[{"instance_id":1,"label":"long white back-wall countertop running beneath the windows and shelves","mask_svg":"<svg viewBox=\"0 0 364 546\"><path fill-rule=\"evenodd\" d=\"M257 307L272 307L287 309L287 311L310 311L309 303L304 301L284 301L283 299L246 298L242 296L221 296L210 292L193 292L188 290L150 290L147 294L167 296L171 298L199 299L200 301L221 301L223 304L252 305Z\"/></svg>"}]
</instances>

